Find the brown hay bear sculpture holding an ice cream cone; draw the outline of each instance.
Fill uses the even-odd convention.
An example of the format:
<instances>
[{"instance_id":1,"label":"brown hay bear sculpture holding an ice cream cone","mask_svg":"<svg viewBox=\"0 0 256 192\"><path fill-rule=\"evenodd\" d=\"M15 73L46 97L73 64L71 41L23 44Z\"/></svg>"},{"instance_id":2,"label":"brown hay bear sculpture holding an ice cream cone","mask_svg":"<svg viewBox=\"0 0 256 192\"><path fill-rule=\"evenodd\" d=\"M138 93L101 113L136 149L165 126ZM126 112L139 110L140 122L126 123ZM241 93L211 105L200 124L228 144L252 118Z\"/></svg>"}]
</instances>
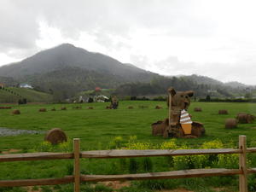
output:
<instances>
[{"instance_id":1,"label":"brown hay bear sculpture holding an ice cream cone","mask_svg":"<svg viewBox=\"0 0 256 192\"><path fill-rule=\"evenodd\" d=\"M191 121L191 129L185 133L183 123L181 121L182 111L186 114L184 122L191 119L191 116L186 111L189 108L190 97L194 95L194 91L177 92L173 88L168 89L167 106L169 107L169 118L163 121L157 121L152 124L152 134L154 136L161 135L163 137L186 137L195 138L205 134L205 128L200 122ZM171 98L170 98L171 96ZM171 104L171 106L170 106ZM186 124L187 125L187 124Z\"/></svg>"}]
</instances>

